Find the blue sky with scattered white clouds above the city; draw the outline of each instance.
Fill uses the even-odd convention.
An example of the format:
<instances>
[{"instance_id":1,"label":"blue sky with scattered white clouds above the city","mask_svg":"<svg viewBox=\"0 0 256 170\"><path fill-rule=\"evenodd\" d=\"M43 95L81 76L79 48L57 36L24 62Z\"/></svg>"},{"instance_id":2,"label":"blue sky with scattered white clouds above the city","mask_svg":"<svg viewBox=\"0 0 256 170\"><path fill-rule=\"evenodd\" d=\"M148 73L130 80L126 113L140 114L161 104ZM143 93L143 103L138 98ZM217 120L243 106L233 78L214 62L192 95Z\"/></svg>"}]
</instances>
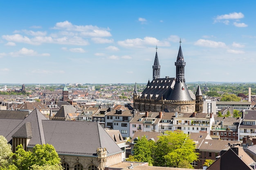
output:
<instances>
[{"instance_id":1,"label":"blue sky with scattered white clouds above the city","mask_svg":"<svg viewBox=\"0 0 256 170\"><path fill-rule=\"evenodd\" d=\"M0 83L255 82L256 1L0 0Z\"/></svg>"}]
</instances>

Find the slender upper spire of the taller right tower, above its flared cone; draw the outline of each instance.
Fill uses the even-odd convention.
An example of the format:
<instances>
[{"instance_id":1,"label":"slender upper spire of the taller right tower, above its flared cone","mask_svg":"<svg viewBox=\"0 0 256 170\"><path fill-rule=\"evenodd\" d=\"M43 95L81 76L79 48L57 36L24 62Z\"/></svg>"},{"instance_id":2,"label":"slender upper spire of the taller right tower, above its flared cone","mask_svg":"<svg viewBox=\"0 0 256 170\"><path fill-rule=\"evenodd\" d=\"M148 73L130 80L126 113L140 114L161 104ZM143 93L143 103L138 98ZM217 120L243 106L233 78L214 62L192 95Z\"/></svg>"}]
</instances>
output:
<instances>
[{"instance_id":1,"label":"slender upper spire of the taller right tower, above its flared cone","mask_svg":"<svg viewBox=\"0 0 256 170\"><path fill-rule=\"evenodd\" d=\"M185 65L182 49L181 49L181 40L180 40L180 49L177 56L177 61L175 62L176 66L176 83L177 82L185 82Z\"/></svg>"}]
</instances>

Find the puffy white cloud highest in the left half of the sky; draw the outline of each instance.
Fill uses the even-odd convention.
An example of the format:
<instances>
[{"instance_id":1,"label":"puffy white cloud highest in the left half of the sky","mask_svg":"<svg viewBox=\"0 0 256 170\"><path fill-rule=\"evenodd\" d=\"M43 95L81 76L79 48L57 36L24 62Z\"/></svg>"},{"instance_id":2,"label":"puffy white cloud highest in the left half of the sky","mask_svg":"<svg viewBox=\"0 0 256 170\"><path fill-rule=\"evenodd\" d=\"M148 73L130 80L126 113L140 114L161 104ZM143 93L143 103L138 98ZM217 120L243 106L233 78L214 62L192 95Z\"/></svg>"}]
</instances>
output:
<instances>
[{"instance_id":1,"label":"puffy white cloud highest in the left half of the sky","mask_svg":"<svg viewBox=\"0 0 256 170\"><path fill-rule=\"evenodd\" d=\"M89 37L110 37L112 36L109 32L109 28L99 28L98 26L85 25L77 26L73 25L71 22L57 22L53 29L66 30L66 31L76 31L80 32L81 36Z\"/></svg>"}]
</instances>

